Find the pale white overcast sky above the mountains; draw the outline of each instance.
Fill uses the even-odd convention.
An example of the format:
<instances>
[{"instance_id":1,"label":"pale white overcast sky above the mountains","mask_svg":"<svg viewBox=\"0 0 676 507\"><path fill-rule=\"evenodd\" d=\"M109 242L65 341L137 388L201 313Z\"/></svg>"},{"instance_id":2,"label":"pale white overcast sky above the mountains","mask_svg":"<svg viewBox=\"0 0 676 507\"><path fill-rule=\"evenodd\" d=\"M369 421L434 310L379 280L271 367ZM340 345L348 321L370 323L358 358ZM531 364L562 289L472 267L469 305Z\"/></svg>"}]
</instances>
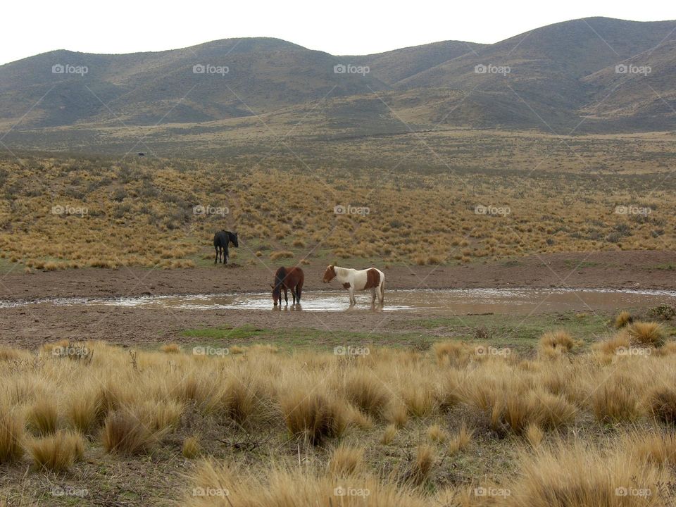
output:
<instances>
[{"instance_id":1,"label":"pale white overcast sky above the mountains","mask_svg":"<svg viewBox=\"0 0 676 507\"><path fill-rule=\"evenodd\" d=\"M159 51L230 37L279 37L337 55L451 39L492 43L589 16L672 20L676 2L8 1L1 13L0 64L53 49Z\"/></svg>"}]
</instances>

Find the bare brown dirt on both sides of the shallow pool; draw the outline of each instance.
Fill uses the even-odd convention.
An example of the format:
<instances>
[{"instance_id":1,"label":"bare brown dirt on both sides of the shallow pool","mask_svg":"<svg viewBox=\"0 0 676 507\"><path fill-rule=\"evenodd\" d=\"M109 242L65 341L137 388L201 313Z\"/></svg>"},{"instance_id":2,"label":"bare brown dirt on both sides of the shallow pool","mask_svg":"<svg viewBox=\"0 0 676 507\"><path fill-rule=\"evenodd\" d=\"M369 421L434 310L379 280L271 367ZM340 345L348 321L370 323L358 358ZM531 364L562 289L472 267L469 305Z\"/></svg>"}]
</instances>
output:
<instances>
[{"instance_id":1,"label":"bare brown dirt on both sides of the shallow pool","mask_svg":"<svg viewBox=\"0 0 676 507\"><path fill-rule=\"evenodd\" d=\"M676 252L625 251L530 256L513 261L460 266L394 266L386 269L387 289L474 287L568 287L676 289ZM303 266L305 294L324 289L325 266ZM269 289L273 274L264 265L190 270L67 270L0 276L0 299L34 300L72 296L137 296L260 292ZM182 331L197 327L253 325L261 328L314 328L332 332L394 332L410 329L415 312L345 313L307 311L125 308L119 306L55 306L36 302L0 308L0 344L34 347L58 339L104 339L117 344L187 341Z\"/></svg>"}]
</instances>

